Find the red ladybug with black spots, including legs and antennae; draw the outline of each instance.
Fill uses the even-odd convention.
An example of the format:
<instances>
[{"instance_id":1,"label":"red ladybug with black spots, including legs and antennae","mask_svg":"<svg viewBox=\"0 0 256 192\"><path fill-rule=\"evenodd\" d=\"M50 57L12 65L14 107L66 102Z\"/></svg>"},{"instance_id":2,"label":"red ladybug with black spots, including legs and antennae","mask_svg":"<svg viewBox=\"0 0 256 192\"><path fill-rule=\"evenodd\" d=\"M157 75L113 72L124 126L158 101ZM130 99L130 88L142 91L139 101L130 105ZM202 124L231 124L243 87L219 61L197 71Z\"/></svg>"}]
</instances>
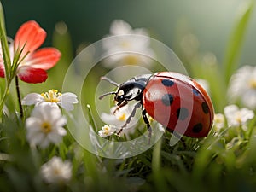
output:
<instances>
[{"instance_id":1,"label":"red ladybug with black spots, including legs and antennae","mask_svg":"<svg viewBox=\"0 0 256 192\"><path fill-rule=\"evenodd\" d=\"M142 108L149 136L151 126L147 113L167 130L187 137L206 137L211 130L214 115L211 98L200 84L186 75L173 72L143 74L123 84L106 77L102 79L118 87L116 91L99 97L115 95L116 110L132 100L138 101L119 132L130 123L137 108Z\"/></svg>"}]
</instances>

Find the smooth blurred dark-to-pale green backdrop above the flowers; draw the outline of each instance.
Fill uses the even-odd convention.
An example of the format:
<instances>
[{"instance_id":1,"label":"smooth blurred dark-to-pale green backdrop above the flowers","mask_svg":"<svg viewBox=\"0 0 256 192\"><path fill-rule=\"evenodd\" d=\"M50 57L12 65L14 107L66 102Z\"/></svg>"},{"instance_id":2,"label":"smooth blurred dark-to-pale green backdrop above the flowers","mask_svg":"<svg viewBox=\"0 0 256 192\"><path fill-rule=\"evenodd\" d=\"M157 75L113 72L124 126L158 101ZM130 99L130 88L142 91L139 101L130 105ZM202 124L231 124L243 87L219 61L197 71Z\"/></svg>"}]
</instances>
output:
<instances>
[{"instance_id":1,"label":"smooth blurred dark-to-pale green backdrop above the flowers","mask_svg":"<svg viewBox=\"0 0 256 192\"><path fill-rule=\"evenodd\" d=\"M241 4L247 1L177 0L3 0L7 32L15 36L26 20L37 20L48 32L45 46L51 44L55 23L64 21L73 41L93 43L108 34L115 19L125 20L133 28L148 28L151 36L175 50L180 33L192 32L200 42L200 52L212 52L222 62L230 32ZM255 65L256 14L247 27L241 50L241 65ZM177 53L178 55L178 53Z\"/></svg>"}]
</instances>

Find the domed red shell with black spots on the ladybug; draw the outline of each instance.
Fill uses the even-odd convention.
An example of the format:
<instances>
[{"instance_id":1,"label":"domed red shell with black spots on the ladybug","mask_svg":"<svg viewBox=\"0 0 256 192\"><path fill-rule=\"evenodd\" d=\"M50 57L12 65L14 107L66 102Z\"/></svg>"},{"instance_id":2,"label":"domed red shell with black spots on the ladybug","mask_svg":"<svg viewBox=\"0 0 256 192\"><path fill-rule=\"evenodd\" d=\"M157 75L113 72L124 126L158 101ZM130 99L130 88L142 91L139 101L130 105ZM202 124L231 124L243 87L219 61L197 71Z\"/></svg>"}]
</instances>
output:
<instances>
[{"instance_id":1,"label":"domed red shell with black spots on the ladybug","mask_svg":"<svg viewBox=\"0 0 256 192\"><path fill-rule=\"evenodd\" d=\"M143 107L160 124L188 137L206 137L212 127L210 97L180 73L155 73L143 90Z\"/></svg>"}]
</instances>

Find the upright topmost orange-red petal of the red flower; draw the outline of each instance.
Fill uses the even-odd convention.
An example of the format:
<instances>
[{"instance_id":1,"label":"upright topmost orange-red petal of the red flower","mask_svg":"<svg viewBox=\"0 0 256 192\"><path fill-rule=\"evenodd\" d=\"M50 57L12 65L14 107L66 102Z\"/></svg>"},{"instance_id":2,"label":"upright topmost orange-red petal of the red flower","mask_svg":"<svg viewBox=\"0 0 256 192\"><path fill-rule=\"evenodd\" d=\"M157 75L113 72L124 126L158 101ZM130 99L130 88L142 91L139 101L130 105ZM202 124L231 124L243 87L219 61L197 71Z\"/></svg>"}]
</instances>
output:
<instances>
[{"instance_id":1,"label":"upright topmost orange-red petal of the red flower","mask_svg":"<svg viewBox=\"0 0 256 192\"><path fill-rule=\"evenodd\" d=\"M22 55L25 55L28 51L32 53L44 43L45 38L46 32L38 25L36 21L27 21L20 26L15 35L15 49L21 49L24 44L26 44Z\"/></svg>"}]
</instances>

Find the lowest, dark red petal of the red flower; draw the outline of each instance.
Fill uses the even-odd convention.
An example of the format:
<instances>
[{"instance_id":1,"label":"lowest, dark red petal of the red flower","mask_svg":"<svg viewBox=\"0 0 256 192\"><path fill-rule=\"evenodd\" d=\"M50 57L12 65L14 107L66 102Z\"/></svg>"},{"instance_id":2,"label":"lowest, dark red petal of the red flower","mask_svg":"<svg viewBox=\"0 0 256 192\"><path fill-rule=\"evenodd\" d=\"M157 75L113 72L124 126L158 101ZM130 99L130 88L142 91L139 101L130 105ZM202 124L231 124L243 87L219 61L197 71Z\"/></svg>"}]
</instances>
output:
<instances>
[{"instance_id":1,"label":"lowest, dark red petal of the red flower","mask_svg":"<svg viewBox=\"0 0 256 192\"><path fill-rule=\"evenodd\" d=\"M43 83L48 78L44 69L28 66L19 67L18 76L22 81L30 84Z\"/></svg>"}]
</instances>

